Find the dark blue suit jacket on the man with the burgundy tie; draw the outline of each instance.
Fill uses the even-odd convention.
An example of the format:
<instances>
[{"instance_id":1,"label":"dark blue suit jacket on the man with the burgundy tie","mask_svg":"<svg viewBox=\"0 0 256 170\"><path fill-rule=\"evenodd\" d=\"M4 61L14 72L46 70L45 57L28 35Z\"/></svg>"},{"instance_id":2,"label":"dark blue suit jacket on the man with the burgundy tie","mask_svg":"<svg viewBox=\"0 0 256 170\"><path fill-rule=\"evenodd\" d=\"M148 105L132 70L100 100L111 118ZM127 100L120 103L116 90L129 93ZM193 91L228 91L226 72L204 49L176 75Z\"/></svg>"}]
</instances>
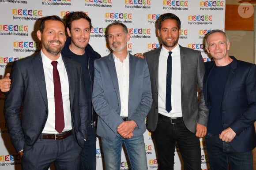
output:
<instances>
[{"instance_id":1,"label":"dark blue suit jacket on the man with the burgundy tie","mask_svg":"<svg viewBox=\"0 0 256 170\"><path fill-rule=\"evenodd\" d=\"M86 139L88 102L81 65L62 56L68 74L72 134L83 147ZM22 118L20 107L23 104ZM28 150L41 134L48 117L45 75L40 52L16 61L11 70L11 89L6 92L4 116L17 152Z\"/></svg>"}]
</instances>

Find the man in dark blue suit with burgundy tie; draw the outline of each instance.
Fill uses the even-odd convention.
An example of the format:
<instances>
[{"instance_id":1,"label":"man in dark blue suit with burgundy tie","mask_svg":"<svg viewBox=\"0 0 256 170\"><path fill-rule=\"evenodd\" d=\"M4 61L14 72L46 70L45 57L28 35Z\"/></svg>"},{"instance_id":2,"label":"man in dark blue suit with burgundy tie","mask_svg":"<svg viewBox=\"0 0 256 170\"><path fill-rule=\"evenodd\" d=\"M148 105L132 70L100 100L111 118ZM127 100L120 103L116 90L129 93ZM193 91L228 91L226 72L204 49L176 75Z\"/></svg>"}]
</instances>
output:
<instances>
[{"instance_id":1,"label":"man in dark blue suit with burgundy tie","mask_svg":"<svg viewBox=\"0 0 256 170\"><path fill-rule=\"evenodd\" d=\"M87 136L83 72L60 54L66 35L58 16L43 18L37 36L41 52L16 61L11 70L4 104L11 142L23 170L47 170L51 163L56 170L78 170Z\"/></svg>"}]
</instances>

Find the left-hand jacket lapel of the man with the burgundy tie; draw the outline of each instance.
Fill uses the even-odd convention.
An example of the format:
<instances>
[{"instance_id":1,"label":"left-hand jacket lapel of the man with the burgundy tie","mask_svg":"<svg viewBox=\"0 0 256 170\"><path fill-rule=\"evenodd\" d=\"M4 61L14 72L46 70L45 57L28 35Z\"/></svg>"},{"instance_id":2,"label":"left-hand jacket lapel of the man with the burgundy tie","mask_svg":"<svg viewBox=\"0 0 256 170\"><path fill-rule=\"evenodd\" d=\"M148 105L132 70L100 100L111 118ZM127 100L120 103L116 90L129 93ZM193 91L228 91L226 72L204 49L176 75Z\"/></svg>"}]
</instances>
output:
<instances>
[{"instance_id":1,"label":"left-hand jacket lapel of the man with the burgundy tie","mask_svg":"<svg viewBox=\"0 0 256 170\"><path fill-rule=\"evenodd\" d=\"M36 79L36 83L38 84L40 94L44 100L45 106L48 109L48 100L47 100L47 92L46 92L46 85L45 85L45 73L43 62L41 58L40 52L34 56L32 60L32 67L34 70L34 77Z\"/></svg>"}]
</instances>

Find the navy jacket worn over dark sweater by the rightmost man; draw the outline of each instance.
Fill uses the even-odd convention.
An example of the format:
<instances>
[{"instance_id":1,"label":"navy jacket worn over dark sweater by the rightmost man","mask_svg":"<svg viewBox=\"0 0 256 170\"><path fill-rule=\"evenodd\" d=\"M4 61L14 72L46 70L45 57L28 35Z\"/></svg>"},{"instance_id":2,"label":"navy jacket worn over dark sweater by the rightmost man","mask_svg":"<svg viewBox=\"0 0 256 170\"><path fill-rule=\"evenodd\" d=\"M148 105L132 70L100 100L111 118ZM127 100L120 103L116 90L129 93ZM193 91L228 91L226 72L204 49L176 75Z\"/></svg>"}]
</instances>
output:
<instances>
[{"instance_id":1,"label":"navy jacket worn over dark sweater by the rightmost man","mask_svg":"<svg viewBox=\"0 0 256 170\"><path fill-rule=\"evenodd\" d=\"M223 129L231 127L237 135L230 142L237 152L247 152L256 147L256 65L239 61L233 62L226 81L222 98L221 115ZM206 105L211 110L207 91L208 78L215 63L205 63L203 92Z\"/></svg>"}]
</instances>

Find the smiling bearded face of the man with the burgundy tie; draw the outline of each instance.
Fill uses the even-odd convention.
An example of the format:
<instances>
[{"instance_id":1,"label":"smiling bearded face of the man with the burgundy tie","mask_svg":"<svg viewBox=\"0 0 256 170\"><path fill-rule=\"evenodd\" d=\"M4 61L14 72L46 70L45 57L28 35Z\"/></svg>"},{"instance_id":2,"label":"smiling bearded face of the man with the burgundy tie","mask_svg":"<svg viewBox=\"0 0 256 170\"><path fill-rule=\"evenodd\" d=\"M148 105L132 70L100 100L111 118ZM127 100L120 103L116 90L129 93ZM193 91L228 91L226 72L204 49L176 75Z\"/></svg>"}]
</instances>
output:
<instances>
[{"instance_id":1,"label":"smiling bearded face of the man with the burgundy tie","mask_svg":"<svg viewBox=\"0 0 256 170\"><path fill-rule=\"evenodd\" d=\"M65 26L60 21L47 20L41 33L37 32L38 39L42 42L42 51L50 59L56 60L66 41Z\"/></svg>"}]
</instances>

